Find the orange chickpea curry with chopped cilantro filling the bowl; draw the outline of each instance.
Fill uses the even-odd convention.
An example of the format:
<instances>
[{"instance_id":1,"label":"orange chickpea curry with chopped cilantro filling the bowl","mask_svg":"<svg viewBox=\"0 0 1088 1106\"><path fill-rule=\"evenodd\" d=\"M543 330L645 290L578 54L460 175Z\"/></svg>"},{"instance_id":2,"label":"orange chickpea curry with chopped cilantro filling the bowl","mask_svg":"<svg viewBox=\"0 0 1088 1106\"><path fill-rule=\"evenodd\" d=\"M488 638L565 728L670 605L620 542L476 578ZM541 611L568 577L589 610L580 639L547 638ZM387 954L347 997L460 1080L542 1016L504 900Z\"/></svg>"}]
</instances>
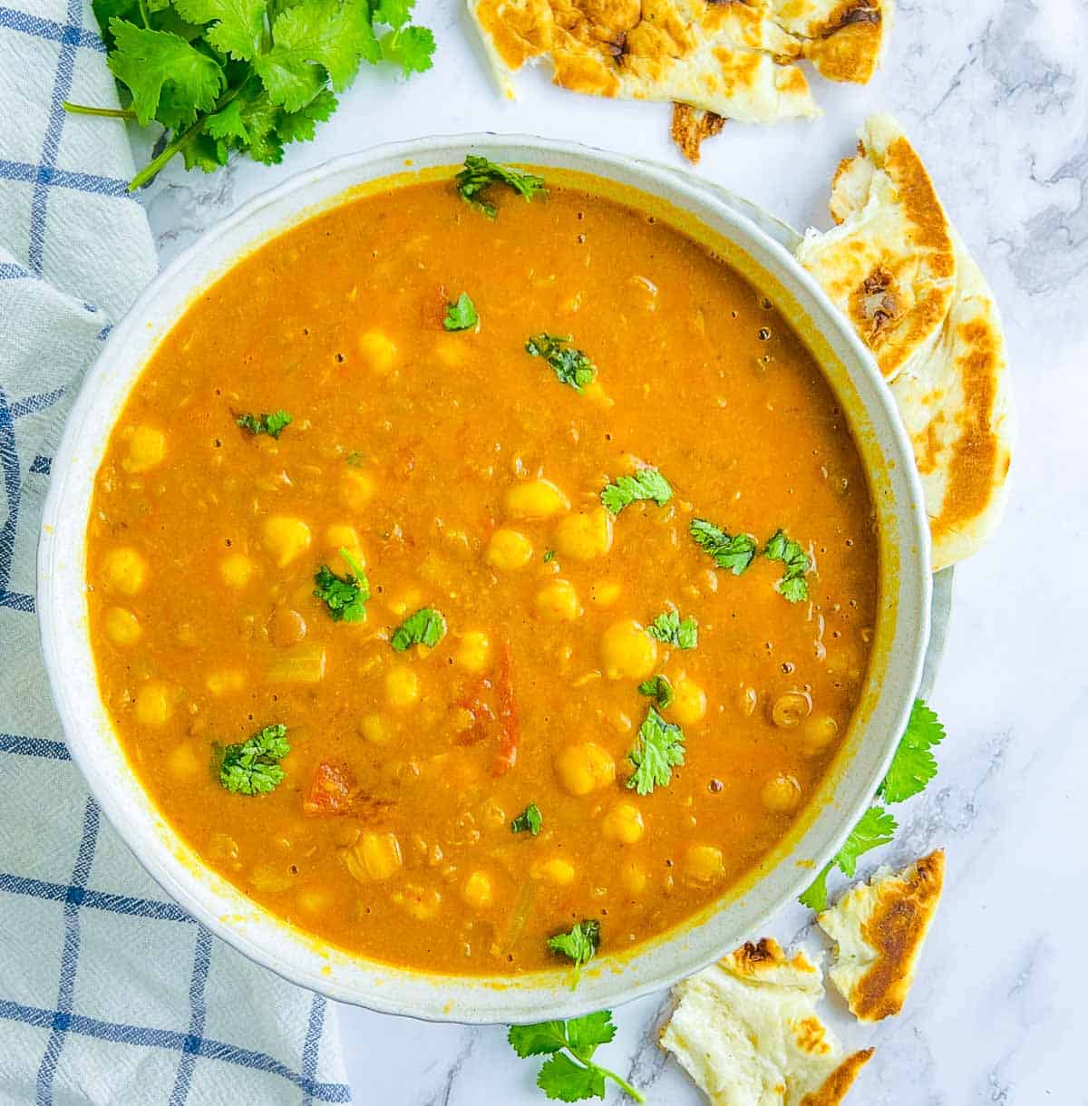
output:
<instances>
[{"instance_id":1,"label":"orange chickpea curry with chopped cilantro filling the bowl","mask_svg":"<svg viewBox=\"0 0 1088 1106\"><path fill-rule=\"evenodd\" d=\"M756 865L846 733L879 587L774 305L482 158L190 305L87 573L106 709L203 862L349 951L488 974L630 949Z\"/></svg>"}]
</instances>

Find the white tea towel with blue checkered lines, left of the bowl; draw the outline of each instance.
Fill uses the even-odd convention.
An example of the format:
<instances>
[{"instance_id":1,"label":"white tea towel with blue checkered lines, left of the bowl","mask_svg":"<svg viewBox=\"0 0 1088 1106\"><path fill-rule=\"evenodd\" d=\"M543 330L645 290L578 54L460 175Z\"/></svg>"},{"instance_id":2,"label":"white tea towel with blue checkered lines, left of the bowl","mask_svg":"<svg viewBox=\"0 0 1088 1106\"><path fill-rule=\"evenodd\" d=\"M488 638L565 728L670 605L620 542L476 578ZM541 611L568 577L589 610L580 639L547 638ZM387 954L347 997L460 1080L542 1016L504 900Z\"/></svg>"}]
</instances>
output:
<instances>
[{"instance_id":1,"label":"white tea towel with blue checkered lines, left of the bowl","mask_svg":"<svg viewBox=\"0 0 1088 1106\"><path fill-rule=\"evenodd\" d=\"M168 901L69 759L39 659L51 455L111 323L155 273L82 0L0 0L0 1104L349 1102L325 1000Z\"/></svg>"}]
</instances>

